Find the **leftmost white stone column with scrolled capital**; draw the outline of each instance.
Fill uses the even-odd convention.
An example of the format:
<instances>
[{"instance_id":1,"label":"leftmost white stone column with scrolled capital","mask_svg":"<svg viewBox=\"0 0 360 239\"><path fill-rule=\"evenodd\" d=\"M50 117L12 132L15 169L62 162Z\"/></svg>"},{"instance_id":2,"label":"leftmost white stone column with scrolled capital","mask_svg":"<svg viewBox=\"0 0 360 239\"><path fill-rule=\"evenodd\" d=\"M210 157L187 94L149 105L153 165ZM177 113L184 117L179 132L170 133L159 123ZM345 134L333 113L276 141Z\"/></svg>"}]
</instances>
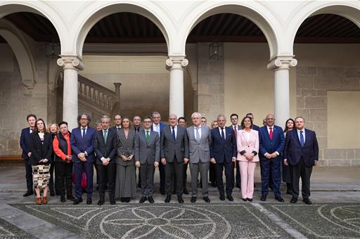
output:
<instances>
[{"instance_id":1,"label":"leftmost white stone column with scrolled capital","mask_svg":"<svg viewBox=\"0 0 360 239\"><path fill-rule=\"evenodd\" d=\"M61 56L58 65L64 69L63 120L68 122L68 127L72 130L77 127L79 114L77 72L84 69L84 65L77 56Z\"/></svg>"}]
</instances>

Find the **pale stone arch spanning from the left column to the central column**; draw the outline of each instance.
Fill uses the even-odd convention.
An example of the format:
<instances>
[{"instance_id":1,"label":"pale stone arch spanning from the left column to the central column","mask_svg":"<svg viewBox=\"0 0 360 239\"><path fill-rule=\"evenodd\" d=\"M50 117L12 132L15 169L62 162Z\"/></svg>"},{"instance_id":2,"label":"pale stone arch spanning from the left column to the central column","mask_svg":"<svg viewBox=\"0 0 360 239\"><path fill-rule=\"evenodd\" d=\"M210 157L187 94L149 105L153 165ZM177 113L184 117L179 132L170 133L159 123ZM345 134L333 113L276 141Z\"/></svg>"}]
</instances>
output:
<instances>
[{"instance_id":1,"label":"pale stone arch spanning from the left column to the central column","mask_svg":"<svg viewBox=\"0 0 360 239\"><path fill-rule=\"evenodd\" d=\"M150 10L147 6L143 6L141 4L141 1L131 4L111 2L110 4L105 3L105 5L98 6L96 8L96 11L89 12L90 15L87 15L84 18L84 22L82 22L81 27L79 27L79 31L75 34L77 55L82 58L82 49L84 46L86 35L99 20L113 13L122 12L136 13L139 15L143 15L144 17L151 20L155 25L159 27L162 35L165 37L165 41L167 43L167 50L169 50L169 31L165 27L165 22L158 18L157 14L154 11Z\"/></svg>"}]
</instances>

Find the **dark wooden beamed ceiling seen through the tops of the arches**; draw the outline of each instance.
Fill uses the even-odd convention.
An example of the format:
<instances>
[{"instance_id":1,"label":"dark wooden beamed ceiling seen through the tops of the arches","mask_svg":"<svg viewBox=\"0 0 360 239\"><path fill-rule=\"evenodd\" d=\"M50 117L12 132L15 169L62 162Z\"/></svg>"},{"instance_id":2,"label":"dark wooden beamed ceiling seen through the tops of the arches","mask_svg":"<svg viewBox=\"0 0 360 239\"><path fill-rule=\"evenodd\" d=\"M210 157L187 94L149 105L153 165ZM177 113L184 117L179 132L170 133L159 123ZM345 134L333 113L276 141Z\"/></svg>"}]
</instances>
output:
<instances>
[{"instance_id":1,"label":"dark wooden beamed ceiling seen through the tops of the arches","mask_svg":"<svg viewBox=\"0 0 360 239\"><path fill-rule=\"evenodd\" d=\"M58 42L49 20L34 13L13 13L5 17L35 41ZM266 42L254 22L241 15L212 15L196 25L188 42ZM4 39L0 39L4 42ZM135 13L108 15L92 27L86 43L164 43L159 28ZM307 18L295 37L296 43L360 43L360 28L340 15L321 14Z\"/></svg>"}]
</instances>

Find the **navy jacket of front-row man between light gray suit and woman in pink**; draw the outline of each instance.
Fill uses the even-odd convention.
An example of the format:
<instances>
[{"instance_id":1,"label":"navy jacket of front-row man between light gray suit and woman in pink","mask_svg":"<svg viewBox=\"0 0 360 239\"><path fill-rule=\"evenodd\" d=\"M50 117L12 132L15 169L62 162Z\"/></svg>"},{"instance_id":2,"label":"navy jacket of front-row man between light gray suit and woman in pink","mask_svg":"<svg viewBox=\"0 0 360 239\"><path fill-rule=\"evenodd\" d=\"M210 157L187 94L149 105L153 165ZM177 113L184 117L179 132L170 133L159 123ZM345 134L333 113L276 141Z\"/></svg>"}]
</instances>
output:
<instances>
[{"instance_id":1,"label":"navy jacket of front-row man between light gray suit and woman in pink","mask_svg":"<svg viewBox=\"0 0 360 239\"><path fill-rule=\"evenodd\" d=\"M236 157L236 138L233 128L224 127L225 140L221 138L219 128L211 130L210 158L219 164L230 163Z\"/></svg>"}]
</instances>

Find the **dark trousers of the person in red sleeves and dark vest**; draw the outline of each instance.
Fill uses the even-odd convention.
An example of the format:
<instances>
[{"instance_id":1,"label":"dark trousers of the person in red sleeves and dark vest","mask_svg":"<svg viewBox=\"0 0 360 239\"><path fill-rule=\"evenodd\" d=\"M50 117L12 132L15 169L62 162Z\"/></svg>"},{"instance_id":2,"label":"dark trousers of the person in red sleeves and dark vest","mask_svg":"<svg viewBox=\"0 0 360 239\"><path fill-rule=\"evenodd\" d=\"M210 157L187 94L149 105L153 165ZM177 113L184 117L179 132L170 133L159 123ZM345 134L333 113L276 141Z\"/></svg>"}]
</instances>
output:
<instances>
[{"instance_id":1,"label":"dark trousers of the person in red sleeves and dark vest","mask_svg":"<svg viewBox=\"0 0 360 239\"><path fill-rule=\"evenodd\" d=\"M72 162L55 162L55 190L60 195L72 195Z\"/></svg>"}]
</instances>

